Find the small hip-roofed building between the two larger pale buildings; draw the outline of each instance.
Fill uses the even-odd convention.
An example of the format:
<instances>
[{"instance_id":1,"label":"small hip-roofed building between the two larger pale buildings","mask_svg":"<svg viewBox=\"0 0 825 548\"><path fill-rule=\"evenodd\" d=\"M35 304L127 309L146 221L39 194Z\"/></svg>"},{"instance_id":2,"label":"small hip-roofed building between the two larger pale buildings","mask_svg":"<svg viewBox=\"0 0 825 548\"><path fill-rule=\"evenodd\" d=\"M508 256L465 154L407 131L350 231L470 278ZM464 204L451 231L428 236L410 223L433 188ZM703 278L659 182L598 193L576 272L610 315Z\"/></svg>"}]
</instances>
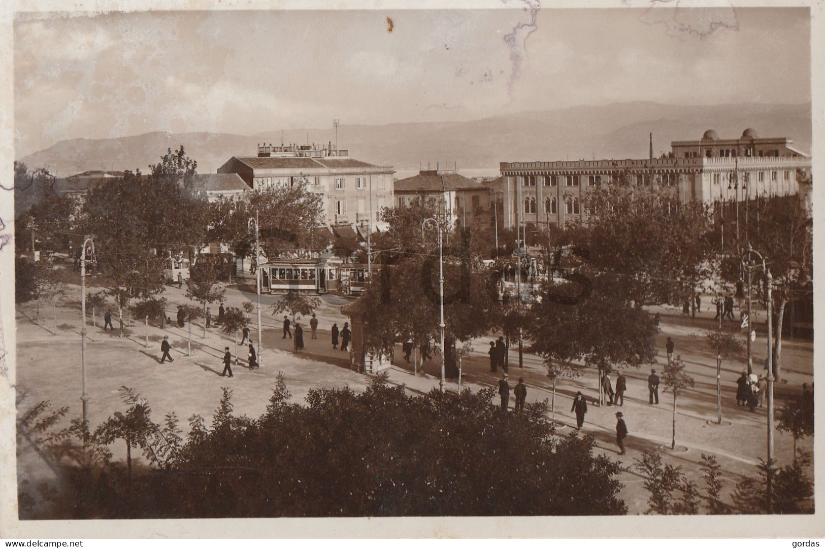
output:
<instances>
[{"instance_id":1,"label":"small hip-roofed building between the two larger pale buildings","mask_svg":"<svg viewBox=\"0 0 825 548\"><path fill-rule=\"evenodd\" d=\"M421 170L416 176L395 181L394 191L396 206L422 197L434 200L454 227L489 222L492 215L488 188L455 170Z\"/></svg>"}]
</instances>

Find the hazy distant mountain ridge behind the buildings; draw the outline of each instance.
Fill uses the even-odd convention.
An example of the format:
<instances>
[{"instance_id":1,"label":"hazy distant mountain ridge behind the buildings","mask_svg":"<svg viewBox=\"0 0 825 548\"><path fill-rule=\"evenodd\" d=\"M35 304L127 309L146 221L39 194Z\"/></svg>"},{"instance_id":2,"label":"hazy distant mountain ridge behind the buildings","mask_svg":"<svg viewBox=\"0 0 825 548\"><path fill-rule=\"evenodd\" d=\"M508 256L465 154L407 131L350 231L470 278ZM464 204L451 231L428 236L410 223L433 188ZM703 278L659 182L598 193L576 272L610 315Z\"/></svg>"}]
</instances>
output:
<instances>
[{"instance_id":1,"label":"hazy distant mountain ridge behind the buildings","mask_svg":"<svg viewBox=\"0 0 825 548\"><path fill-rule=\"evenodd\" d=\"M738 138L748 127L763 137L788 137L810 152L811 105L680 106L654 102L614 103L537 110L461 122L342 125L340 148L352 157L397 171L417 170L419 162L449 162L459 170L496 171L499 162L582 158L647 157L671 141L700 138L715 129ZM285 131L288 142L304 143L307 130ZM333 129L309 130L315 143L334 142ZM198 171L216 171L233 156L254 156L257 143L281 143L281 131L255 135L153 132L107 139L69 139L19 158L30 169L50 167L59 176L87 170L126 170L157 163L167 148L183 145Z\"/></svg>"}]
</instances>

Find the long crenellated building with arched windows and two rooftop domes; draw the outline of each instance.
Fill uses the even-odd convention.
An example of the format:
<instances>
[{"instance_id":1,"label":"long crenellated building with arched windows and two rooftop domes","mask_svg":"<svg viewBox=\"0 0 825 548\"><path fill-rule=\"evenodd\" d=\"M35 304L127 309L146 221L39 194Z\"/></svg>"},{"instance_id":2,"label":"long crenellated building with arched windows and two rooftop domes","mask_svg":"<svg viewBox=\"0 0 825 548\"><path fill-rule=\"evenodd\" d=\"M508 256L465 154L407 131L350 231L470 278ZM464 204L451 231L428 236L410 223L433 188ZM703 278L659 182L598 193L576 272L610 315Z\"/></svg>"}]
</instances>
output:
<instances>
[{"instance_id":1,"label":"long crenellated building with arched windows and two rooftop domes","mask_svg":"<svg viewBox=\"0 0 825 548\"><path fill-rule=\"evenodd\" d=\"M790 139L756 135L746 129L741 138L719 139L709 129L699 141L672 142L667 158L502 162L496 189L502 224L547 226L580 218L587 192L622 180L708 204L797 194L797 170L810 169L811 158L791 148Z\"/></svg>"}]
</instances>

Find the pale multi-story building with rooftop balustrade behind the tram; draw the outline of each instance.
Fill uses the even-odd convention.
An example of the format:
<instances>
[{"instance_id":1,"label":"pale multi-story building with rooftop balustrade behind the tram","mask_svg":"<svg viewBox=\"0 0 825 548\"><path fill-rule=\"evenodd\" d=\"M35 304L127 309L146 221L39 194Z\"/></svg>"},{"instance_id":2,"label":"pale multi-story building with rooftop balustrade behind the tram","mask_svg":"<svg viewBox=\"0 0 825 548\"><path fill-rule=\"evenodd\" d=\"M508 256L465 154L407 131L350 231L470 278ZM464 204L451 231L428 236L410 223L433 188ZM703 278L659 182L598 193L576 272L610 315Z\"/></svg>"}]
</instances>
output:
<instances>
[{"instance_id":1,"label":"pale multi-story building with rooftop balustrade behind the tram","mask_svg":"<svg viewBox=\"0 0 825 548\"><path fill-rule=\"evenodd\" d=\"M257 156L233 156L218 173L237 173L256 190L304 181L321 196L323 213L333 226L375 222L381 208L393 204L392 167L361 162L332 147L258 145Z\"/></svg>"}]
</instances>

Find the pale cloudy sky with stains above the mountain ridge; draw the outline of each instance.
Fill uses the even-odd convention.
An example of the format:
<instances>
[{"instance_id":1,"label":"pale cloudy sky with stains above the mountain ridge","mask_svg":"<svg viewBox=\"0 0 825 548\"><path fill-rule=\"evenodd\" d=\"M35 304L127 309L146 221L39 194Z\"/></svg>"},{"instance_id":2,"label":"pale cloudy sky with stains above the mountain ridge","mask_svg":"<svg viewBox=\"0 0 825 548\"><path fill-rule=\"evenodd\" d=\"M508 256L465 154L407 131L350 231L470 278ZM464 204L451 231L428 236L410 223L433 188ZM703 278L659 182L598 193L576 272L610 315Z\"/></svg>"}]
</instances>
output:
<instances>
[{"instance_id":1,"label":"pale cloudy sky with stains above the mountain ridge","mask_svg":"<svg viewBox=\"0 0 825 548\"><path fill-rule=\"evenodd\" d=\"M15 156L68 138L810 101L807 8L18 13ZM392 22L390 23L389 20ZM391 28L391 30L390 30Z\"/></svg>"}]
</instances>

